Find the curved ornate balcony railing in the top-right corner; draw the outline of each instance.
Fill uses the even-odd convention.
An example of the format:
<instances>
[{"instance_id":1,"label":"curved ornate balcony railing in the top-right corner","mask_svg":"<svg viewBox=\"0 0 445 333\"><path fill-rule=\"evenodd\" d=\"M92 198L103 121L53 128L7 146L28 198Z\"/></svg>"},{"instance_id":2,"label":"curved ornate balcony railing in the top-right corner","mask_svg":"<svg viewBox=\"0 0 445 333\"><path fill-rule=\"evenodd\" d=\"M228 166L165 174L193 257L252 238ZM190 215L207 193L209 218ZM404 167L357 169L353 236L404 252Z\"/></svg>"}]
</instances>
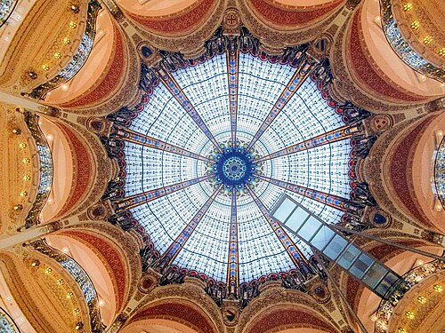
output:
<instances>
[{"instance_id":1,"label":"curved ornate balcony railing in the top-right corner","mask_svg":"<svg viewBox=\"0 0 445 333\"><path fill-rule=\"evenodd\" d=\"M399 58L417 72L445 82L445 70L436 67L418 55L401 36L401 30L397 27L397 22L392 14L392 1L380 0L380 8L384 35Z\"/></svg>"}]
</instances>

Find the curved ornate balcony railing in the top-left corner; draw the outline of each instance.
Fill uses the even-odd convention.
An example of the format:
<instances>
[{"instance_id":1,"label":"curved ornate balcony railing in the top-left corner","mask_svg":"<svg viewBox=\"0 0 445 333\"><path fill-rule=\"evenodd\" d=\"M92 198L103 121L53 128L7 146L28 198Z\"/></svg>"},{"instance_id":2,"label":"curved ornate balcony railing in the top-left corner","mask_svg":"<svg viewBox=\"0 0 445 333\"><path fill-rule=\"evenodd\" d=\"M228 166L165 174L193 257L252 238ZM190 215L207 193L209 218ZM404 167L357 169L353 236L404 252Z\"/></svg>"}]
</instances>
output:
<instances>
[{"instance_id":1,"label":"curved ornate balcony railing in the top-left corner","mask_svg":"<svg viewBox=\"0 0 445 333\"><path fill-rule=\"evenodd\" d=\"M72 79L80 68L85 65L86 59L88 59L88 56L93 50L94 36L96 36L97 13L100 9L101 4L99 4L97 0L90 0L86 12L85 32L77 48L77 52L74 54L71 61L69 61L69 64L62 68L58 75L55 75L51 80L34 88L28 93L29 97L33 99L44 99L44 95L46 95L48 91L52 91L62 83L66 83Z\"/></svg>"}]
</instances>

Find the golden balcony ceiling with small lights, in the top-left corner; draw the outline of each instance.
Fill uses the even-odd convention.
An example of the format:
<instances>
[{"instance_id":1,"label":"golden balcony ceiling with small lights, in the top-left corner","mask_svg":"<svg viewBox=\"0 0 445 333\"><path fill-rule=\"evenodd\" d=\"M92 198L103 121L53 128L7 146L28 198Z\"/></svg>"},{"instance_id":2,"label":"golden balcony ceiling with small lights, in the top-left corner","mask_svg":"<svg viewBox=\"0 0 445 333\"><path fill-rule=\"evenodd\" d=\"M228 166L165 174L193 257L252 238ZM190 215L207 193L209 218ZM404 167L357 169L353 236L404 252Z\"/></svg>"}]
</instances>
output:
<instances>
[{"instance_id":1,"label":"golden balcony ceiling with small lights, in the top-left corner","mask_svg":"<svg viewBox=\"0 0 445 333\"><path fill-rule=\"evenodd\" d=\"M78 13L71 11L70 5L68 0L56 6L46 2L33 5L5 53L0 67L1 86L16 93L29 91L68 64L80 43L78 35L85 28L86 16L86 2L78 4ZM76 21L77 28L69 28L70 21ZM69 38L70 44L64 44L64 37ZM61 53L61 59L54 57L55 52ZM48 65L49 70L45 71L43 64ZM30 71L36 78L29 75Z\"/></svg>"}]
</instances>

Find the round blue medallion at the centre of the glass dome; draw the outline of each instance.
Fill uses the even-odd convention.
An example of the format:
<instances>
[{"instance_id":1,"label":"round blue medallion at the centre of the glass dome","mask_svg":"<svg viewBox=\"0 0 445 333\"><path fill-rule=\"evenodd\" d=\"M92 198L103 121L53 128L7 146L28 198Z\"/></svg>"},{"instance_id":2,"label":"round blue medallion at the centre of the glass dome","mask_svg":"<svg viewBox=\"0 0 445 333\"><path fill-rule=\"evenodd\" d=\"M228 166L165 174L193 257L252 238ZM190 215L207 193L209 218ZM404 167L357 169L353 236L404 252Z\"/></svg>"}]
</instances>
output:
<instances>
[{"instance_id":1,"label":"round blue medallion at the centre of the glass dome","mask_svg":"<svg viewBox=\"0 0 445 333\"><path fill-rule=\"evenodd\" d=\"M215 152L212 171L215 184L224 184L226 190L242 189L254 181L256 166L254 155L244 147L222 147L223 153Z\"/></svg>"}]
</instances>

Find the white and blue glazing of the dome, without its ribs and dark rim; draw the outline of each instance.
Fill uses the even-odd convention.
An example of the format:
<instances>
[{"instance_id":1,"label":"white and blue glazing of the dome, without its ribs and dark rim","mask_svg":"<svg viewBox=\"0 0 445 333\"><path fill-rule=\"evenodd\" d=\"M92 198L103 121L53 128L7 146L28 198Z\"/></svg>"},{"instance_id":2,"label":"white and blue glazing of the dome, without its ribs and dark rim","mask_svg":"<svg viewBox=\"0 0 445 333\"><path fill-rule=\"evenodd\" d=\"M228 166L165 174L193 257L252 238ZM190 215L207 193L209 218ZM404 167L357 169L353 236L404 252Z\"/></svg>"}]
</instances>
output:
<instances>
[{"instance_id":1,"label":"white and blue glazing of the dome, without its ribs and dark rim","mask_svg":"<svg viewBox=\"0 0 445 333\"><path fill-rule=\"evenodd\" d=\"M297 68L271 64L249 53L239 53L239 87L237 138L241 145L228 146L231 139L229 75L226 54L216 55L195 67L171 73L184 99L209 129L210 136L223 144L219 152L198 127L173 93L159 83L148 104L132 121L129 129L165 141L204 156L212 162L144 147L125 139L125 196L162 189L208 175L208 179L158 197L150 202L132 205L130 210L145 227L156 250L163 256L176 237L184 235L173 264L206 274L215 281L226 281L231 230L231 191L237 195L236 228L238 229L239 283L262 275L288 272L295 263L279 236L263 217L254 197L270 211L288 194L296 202L329 223L337 223L344 211L329 207L300 194L272 184L263 178L275 178L290 184L312 188L326 194L349 197L348 162L351 147L348 139L312 147L295 154L266 159L282 148L344 126L334 108L321 98L311 78L296 90L287 105L258 138L252 151L245 147L255 136L266 116L287 87ZM174 91L172 89L172 91ZM190 110L189 110L190 112ZM201 126L202 127L202 126ZM243 146L246 144L246 146ZM225 146L224 146L225 145ZM243 169L244 168L244 169ZM261 175L263 178L258 178ZM222 189L209 200L218 186ZM253 194L249 194L249 191ZM125 202L123 199L122 201ZM205 203L208 209L195 222L193 230L184 233L191 219ZM294 234L288 237L306 258L312 251ZM233 247L232 247L233 248ZM237 247L235 247L237 249Z\"/></svg>"}]
</instances>

